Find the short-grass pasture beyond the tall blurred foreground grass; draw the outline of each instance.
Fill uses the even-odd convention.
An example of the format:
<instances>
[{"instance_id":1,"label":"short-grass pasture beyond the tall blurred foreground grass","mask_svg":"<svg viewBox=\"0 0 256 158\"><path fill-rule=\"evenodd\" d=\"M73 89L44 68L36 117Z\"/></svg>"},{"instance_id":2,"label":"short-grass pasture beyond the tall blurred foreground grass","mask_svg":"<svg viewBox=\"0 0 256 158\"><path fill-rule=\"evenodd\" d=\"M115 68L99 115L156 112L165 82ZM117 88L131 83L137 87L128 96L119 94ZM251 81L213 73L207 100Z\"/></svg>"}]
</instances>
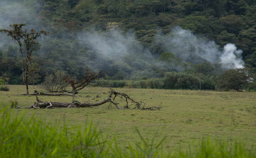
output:
<instances>
[{"instance_id":1,"label":"short-grass pasture beyond the tall blurred foreground grass","mask_svg":"<svg viewBox=\"0 0 256 158\"><path fill-rule=\"evenodd\" d=\"M29 86L30 92L37 86ZM39 90L39 89L37 89ZM79 91L81 96L94 96L108 92L107 88L88 87ZM59 109L26 109L26 115L35 112L37 118L54 125L61 119L68 126L85 125L92 120L93 124L104 131L105 136L116 138L117 143L128 148L128 145L141 144L138 129L147 140L156 136L157 140L166 137L164 150L194 148L198 142L210 137L212 142L234 140L245 143L247 148L255 144L256 138L256 93L254 92L214 92L191 90L160 90L160 89L119 89L116 91L127 93L140 101L144 99L146 107L158 106L162 102L160 111L117 110L107 108L109 104L93 108L59 108ZM10 85L9 92L0 91L0 101L6 104L9 100L19 102L20 109L30 106L36 101L35 96L16 96L25 93L25 86ZM102 96L102 99L107 95ZM152 98L152 99L151 99ZM71 102L71 96L39 96L42 101ZM85 101L85 97L77 97ZM99 98L98 100L102 100ZM95 99L95 101L97 101ZM117 98L119 107L124 101Z\"/></svg>"}]
</instances>

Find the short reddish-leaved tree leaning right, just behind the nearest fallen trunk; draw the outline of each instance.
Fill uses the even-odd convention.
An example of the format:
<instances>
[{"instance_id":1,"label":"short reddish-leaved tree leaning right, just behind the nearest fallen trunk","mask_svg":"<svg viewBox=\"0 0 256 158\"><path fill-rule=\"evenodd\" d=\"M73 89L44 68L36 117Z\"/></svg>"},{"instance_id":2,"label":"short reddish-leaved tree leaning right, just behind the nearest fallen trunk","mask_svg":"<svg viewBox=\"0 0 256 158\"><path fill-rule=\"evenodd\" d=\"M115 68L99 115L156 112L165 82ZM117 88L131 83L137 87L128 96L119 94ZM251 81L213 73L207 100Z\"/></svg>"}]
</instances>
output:
<instances>
[{"instance_id":1,"label":"short reddish-leaved tree leaning right, just behind the nearest fallen trunk","mask_svg":"<svg viewBox=\"0 0 256 158\"><path fill-rule=\"evenodd\" d=\"M65 82L67 84L70 84L73 89L72 103L75 101L75 91L79 91L79 90L85 88L85 86L87 86L87 85L95 85L95 84L91 84L91 81L99 80L99 76L102 75L102 71L103 71L101 69L98 74L95 74L95 72L89 72L88 67L86 67L84 70L85 70L84 79L82 79L80 81L76 81L75 77L65 76Z\"/></svg>"}]
</instances>

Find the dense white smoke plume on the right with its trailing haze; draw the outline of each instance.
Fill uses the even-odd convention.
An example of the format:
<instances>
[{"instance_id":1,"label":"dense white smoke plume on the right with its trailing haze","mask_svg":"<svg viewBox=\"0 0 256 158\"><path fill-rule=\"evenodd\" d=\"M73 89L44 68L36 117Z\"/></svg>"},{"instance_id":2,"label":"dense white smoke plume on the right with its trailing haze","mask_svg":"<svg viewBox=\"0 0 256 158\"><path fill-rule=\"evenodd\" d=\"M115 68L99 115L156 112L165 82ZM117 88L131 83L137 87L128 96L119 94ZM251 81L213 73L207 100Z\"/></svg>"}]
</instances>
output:
<instances>
[{"instance_id":1,"label":"dense white smoke plume on the right with its trailing haze","mask_svg":"<svg viewBox=\"0 0 256 158\"><path fill-rule=\"evenodd\" d=\"M234 63L236 68L243 67L244 62L241 57L243 51L237 50L234 44L226 44L223 49L220 49L214 41L195 36L190 30L181 27L175 27L166 37L165 46L168 51L183 61L200 63L199 59L202 59L210 63Z\"/></svg>"}]
</instances>

